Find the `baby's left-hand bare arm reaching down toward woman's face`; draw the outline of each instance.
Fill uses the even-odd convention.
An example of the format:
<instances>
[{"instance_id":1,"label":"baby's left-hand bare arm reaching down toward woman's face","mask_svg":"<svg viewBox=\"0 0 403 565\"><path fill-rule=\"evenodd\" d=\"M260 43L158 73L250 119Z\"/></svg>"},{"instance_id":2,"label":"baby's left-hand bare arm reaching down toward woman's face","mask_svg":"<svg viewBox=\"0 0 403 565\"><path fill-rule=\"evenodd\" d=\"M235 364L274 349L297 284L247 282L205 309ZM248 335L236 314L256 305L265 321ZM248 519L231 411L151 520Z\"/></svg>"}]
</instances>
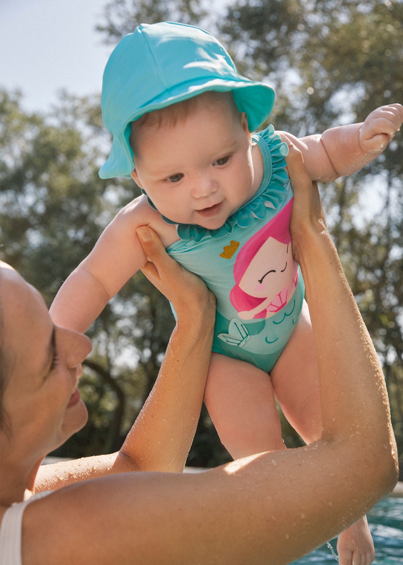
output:
<instances>
[{"instance_id":1,"label":"baby's left-hand bare arm reaching down toward woman's face","mask_svg":"<svg viewBox=\"0 0 403 565\"><path fill-rule=\"evenodd\" d=\"M117 214L56 295L49 311L55 324L86 331L107 302L146 263L135 229L139 225L155 228L155 214L143 197Z\"/></svg>"}]
</instances>

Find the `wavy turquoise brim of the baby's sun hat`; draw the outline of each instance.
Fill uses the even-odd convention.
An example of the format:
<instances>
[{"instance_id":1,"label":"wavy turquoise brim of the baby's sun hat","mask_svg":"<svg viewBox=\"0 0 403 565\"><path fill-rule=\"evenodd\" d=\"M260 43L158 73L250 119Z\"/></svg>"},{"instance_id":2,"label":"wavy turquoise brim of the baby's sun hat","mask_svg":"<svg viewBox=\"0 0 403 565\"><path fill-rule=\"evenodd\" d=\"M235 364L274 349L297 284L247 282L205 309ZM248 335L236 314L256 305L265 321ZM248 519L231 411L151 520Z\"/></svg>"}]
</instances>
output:
<instances>
[{"instance_id":1,"label":"wavy turquoise brim of the baby's sun hat","mask_svg":"<svg viewBox=\"0 0 403 565\"><path fill-rule=\"evenodd\" d=\"M216 92L232 91L236 107L240 112L245 112L247 115L249 131L251 132L259 128L269 118L271 110L273 110L274 89L263 82L253 82L244 77L234 78L234 80L211 80L209 77L208 79L205 77L189 83L182 82L170 90L165 90L157 98L149 101L146 106L138 108L133 115L128 116L126 126L121 129L120 133L113 134L111 153L99 169L100 178L129 177L133 173L134 155L129 144L132 121L141 118L148 112L161 110L209 90Z\"/></svg>"}]
</instances>

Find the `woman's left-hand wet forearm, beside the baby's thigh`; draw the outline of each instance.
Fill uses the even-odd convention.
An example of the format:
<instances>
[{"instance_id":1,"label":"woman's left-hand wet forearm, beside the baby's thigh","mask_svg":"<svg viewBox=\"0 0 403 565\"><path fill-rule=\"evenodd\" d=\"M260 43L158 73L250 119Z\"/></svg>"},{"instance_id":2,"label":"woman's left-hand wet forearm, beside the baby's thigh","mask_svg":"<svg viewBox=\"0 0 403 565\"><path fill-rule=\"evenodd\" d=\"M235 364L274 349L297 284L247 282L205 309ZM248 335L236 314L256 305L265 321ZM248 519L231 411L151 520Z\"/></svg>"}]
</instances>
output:
<instances>
[{"instance_id":1,"label":"woman's left-hand wet forearm, beside the baby's thigh","mask_svg":"<svg viewBox=\"0 0 403 565\"><path fill-rule=\"evenodd\" d=\"M185 466L203 402L213 340L212 320L200 314L199 321L178 318L152 393L120 450L120 457L132 459L138 470L182 472ZM192 337L198 324L200 331Z\"/></svg>"}]
</instances>

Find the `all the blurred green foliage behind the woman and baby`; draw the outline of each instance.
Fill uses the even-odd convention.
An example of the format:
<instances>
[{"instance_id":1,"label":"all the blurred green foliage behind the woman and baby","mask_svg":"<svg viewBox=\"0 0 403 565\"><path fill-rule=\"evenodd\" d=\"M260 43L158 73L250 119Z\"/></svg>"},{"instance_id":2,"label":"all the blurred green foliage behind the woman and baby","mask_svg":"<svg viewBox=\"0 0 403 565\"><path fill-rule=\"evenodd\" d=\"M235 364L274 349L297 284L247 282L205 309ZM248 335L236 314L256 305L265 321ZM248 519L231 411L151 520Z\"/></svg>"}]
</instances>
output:
<instances>
[{"instance_id":1,"label":"all the blurred green foliage behind the woman and baby","mask_svg":"<svg viewBox=\"0 0 403 565\"><path fill-rule=\"evenodd\" d=\"M115 0L106 5L98 30L115 43L141 22L197 25L207 21L204 6L200 0ZM385 103L402 102L401 1L242 0L229 2L213 24L239 71L275 86L270 121L277 129L297 136L322 132L362 121ZM2 93L0 115L0 251L49 305L117 210L139 192L128 179L98 177L109 144L98 99L64 95L44 117L24 113L18 94ZM383 362L400 454L402 152L398 133L362 171L321 187L332 237ZM59 455L119 447L154 384L173 323L167 301L139 273L108 304L89 330L94 353L80 385L89 423ZM280 416L286 445L301 445L281 411ZM203 408L189 463L204 467L226 460L229 455Z\"/></svg>"}]
</instances>

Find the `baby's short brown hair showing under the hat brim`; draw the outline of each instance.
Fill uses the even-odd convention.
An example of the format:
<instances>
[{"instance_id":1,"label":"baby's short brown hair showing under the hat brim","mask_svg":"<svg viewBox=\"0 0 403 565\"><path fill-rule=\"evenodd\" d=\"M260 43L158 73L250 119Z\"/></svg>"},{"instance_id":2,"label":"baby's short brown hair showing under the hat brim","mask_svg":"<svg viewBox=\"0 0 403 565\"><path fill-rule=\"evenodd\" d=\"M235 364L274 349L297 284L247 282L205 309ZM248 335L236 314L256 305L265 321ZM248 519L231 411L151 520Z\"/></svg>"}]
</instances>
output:
<instances>
[{"instance_id":1,"label":"baby's short brown hair showing under the hat brim","mask_svg":"<svg viewBox=\"0 0 403 565\"><path fill-rule=\"evenodd\" d=\"M211 107L225 103L229 107L234 119L239 119L239 110L234 102L232 92L216 92L208 90L182 102L177 102L161 110L147 112L138 120L132 121L132 133L130 134L130 147L135 153L135 133L139 129L160 128L162 125L174 126L178 122L184 122L199 109L200 106Z\"/></svg>"}]
</instances>

